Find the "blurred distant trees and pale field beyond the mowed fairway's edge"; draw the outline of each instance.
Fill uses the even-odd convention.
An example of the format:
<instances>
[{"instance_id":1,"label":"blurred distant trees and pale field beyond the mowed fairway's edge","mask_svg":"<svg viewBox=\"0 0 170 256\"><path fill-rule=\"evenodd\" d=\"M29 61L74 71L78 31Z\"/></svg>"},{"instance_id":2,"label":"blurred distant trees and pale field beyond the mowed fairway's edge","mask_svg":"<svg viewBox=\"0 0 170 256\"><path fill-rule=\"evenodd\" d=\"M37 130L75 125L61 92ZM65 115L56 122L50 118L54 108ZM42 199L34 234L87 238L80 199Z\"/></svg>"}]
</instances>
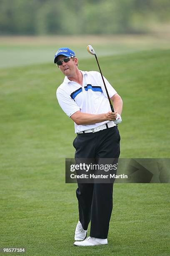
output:
<instances>
[{"instance_id":1,"label":"blurred distant trees and pale field beyond the mowed fairway's edge","mask_svg":"<svg viewBox=\"0 0 170 256\"><path fill-rule=\"evenodd\" d=\"M0 0L0 67L51 62L68 42L79 58L87 44L100 56L166 49L169 13L168 0Z\"/></svg>"}]
</instances>

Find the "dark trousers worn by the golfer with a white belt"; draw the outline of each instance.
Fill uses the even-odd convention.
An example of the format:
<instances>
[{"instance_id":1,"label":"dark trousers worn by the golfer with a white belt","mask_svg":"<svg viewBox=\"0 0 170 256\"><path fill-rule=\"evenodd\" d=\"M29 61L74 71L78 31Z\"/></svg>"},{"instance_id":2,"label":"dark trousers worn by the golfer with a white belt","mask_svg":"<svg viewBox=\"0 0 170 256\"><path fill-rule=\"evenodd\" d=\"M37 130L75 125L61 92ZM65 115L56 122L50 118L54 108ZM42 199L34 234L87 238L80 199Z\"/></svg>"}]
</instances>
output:
<instances>
[{"instance_id":1,"label":"dark trousers worn by the golfer with a white belt","mask_svg":"<svg viewBox=\"0 0 170 256\"><path fill-rule=\"evenodd\" d=\"M120 134L117 126L96 133L80 133L73 141L75 158L117 158L120 155ZM78 183L76 196L79 220L90 236L107 238L112 213L113 183Z\"/></svg>"}]
</instances>

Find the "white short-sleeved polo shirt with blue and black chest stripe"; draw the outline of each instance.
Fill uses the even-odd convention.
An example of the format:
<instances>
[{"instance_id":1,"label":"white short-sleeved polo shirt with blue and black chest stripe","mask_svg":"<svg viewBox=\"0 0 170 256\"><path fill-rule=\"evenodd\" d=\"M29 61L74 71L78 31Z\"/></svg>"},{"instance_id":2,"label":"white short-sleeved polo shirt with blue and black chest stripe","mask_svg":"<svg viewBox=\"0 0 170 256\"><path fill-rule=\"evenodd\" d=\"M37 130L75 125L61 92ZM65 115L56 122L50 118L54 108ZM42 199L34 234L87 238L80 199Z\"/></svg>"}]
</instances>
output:
<instances>
[{"instance_id":1,"label":"white short-sleeved polo shirt with blue and black chest stripe","mask_svg":"<svg viewBox=\"0 0 170 256\"><path fill-rule=\"evenodd\" d=\"M82 86L77 82L70 81L65 77L63 83L57 88L57 100L62 110L70 117L79 111L88 114L102 114L110 111L110 104L102 82L101 74L97 71L81 71L83 75ZM117 92L111 84L105 79L105 84L109 97L111 98ZM75 133L96 128L99 125L108 123L104 121L90 125L77 125L75 123Z\"/></svg>"}]
</instances>

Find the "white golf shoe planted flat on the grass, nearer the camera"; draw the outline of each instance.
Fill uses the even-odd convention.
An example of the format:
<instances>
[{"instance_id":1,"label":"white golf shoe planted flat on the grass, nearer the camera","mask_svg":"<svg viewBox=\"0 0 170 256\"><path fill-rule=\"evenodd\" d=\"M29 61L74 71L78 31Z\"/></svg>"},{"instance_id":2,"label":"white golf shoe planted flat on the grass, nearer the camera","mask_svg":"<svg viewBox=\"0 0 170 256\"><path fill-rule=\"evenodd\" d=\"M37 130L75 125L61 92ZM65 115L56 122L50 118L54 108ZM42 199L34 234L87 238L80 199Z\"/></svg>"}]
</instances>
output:
<instances>
[{"instance_id":1,"label":"white golf shoe planted flat on the grass, nearer the camera","mask_svg":"<svg viewBox=\"0 0 170 256\"><path fill-rule=\"evenodd\" d=\"M107 238L102 239L89 236L84 241L75 242L74 246L97 246L102 244L107 244Z\"/></svg>"}]
</instances>

